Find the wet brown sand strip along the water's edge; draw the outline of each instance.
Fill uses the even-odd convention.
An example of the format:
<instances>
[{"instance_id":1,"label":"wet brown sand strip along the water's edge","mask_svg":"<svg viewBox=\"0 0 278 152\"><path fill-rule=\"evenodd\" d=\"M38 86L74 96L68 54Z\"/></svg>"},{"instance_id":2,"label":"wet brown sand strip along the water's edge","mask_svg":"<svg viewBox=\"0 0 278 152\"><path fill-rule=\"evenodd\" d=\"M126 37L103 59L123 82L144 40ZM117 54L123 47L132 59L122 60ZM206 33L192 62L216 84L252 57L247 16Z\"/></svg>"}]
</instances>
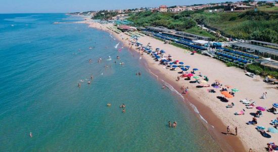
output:
<instances>
[{"instance_id":1,"label":"wet brown sand strip along the water's edge","mask_svg":"<svg viewBox=\"0 0 278 152\"><path fill-rule=\"evenodd\" d=\"M85 23L85 24L88 24L88 23ZM117 34L114 31L107 29L106 27L102 27L102 26L96 27L96 24L89 24L89 27L111 33L116 38L116 40L121 42L123 44L123 46L126 47L129 51L138 53L137 50L135 50L133 48L130 49L128 46L126 46L126 41L121 39L120 34ZM124 34L124 33L122 33L122 34ZM155 77L155 75L160 77L160 79L157 78L158 81L160 81L163 84L165 84L165 82L168 83L177 92L178 92L178 90L180 90L180 87L175 82L168 79L167 77L164 77L164 74L161 71L159 71L158 69L151 66L151 63L150 63L150 61L148 61L146 54L142 55L141 60L146 61L145 63L143 63L141 61L141 63L147 69L147 71L149 70L148 72L151 73L151 75L153 75L154 77ZM163 77L163 79L161 79L161 77ZM178 95L176 92L175 92L175 94ZM234 138L231 138L232 136L230 136L228 138L224 138L224 141L223 141L223 137L220 136L220 132L222 132L222 131L225 132L225 130L220 129L220 128L222 128L222 127L225 128L226 126L216 115L214 115L213 112L210 112L209 115L204 114L206 111L212 111L212 109L207 107L205 104L202 104L201 102L198 101L198 99L196 97L192 97L191 95L188 95L188 96L182 95L182 99L181 99L181 97L179 97L179 98L180 98L181 102L183 102L184 104L189 106L189 109L191 109L191 111L194 113L194 115L197 117L197 119L199 119L199 121L202 122L202 124L207 129L209 134L212 136L212 138L215 140L215 142L217 142L217 144L219 145L221 150L223 150L223 151L247 151L248 150L246 145L243 144L243 142L237 136L235 136ZM192 107L192 105L190 105L190 104L193 104L194 106L196 106L199 113L197 113L195 111L194 107ZM203 119L201 117L203 117ZM204 120L207 122L205 122ZM219 124L219 122L220 122L220 124ZM219 130L217 130L217 129L219 129Z\"/></svg>"}]
</instances>

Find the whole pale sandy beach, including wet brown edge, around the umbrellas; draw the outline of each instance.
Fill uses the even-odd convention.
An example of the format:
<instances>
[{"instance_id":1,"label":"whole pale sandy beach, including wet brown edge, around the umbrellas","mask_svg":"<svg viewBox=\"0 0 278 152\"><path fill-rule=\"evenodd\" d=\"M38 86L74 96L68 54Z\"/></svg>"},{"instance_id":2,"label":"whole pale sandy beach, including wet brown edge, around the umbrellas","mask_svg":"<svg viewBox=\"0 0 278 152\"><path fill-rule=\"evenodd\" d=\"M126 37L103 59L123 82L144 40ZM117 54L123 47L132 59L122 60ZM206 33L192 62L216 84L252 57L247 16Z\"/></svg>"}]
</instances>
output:
<instances>
[{"instance_id":1,"label":"whole pale sandy beach, including wet brown edge, around the umbrellas","mask_svg":"<svg viewBox=\"0 0 278 152\"><path fill-rule=\"evenodd\" d=\"M98 22L92 22L87 19L83 22L89 24L89 27L97 28L100 30L108 31L113 33L113 35L123 43L125 47L129 47L129 37L124 33L117 34L107 27L112 27L112 24L100 24ZM126 40L128 39L128 40ZM268 142L278 142L278 134L269 133L271 138L263 137L256 129L254 125L247 125L248 121L252 121L252 113L255 113L257 109L245 108L245 105L240 102L241 99L253 99L256 106L262 106L266 108L272 107L272 103L277 101L278 93L275 86L269 86L263 82L263 78L250 78L245 75L244 70L236 67L227 67L223 62L216 60L214 58L191 53L187 50L177 48L170 44L164 44L162 41L156 40L150 36L138 37L138 42L147 46L148 43L152 48L160 48L166 51L166 54L170 54L174 60L179 60L184 62L185 65L189 65L192 68L198 68L196 73L201 72L209 78L209 84L212 84L214 80L219 80L224 85L229 85L231 88L239 89L236 92L235 97L228 98L229 102L221 102L217 99L217 96L223 96L220 93L220 89L215 89L216 93L209 93L208 89L213 89L212 87L207 88L197 88L198 83L190 83L190 81L180 79L176 81L177 77L180 76L178 71L172 71L166 69L164 65L159 65L154 58L150 55L144 53L142 55L144 61L146 61L147 68L150 72L158 75L159 79L169 83L173 86L179 93L181 86L188 86L188 94L182 94L185 98L185 104L194 104L200 115L207 121L203 121L205 126L207 126L209 132L216 141L222 145L223 151L248 151L250 148L253 151L265 151ZM136 50L137 51L137 50ZM138 52L138 51L137 51ZM141 51L142 52L142 51ZM230 91L230 89L228 90ZM267 98L261 99L260 97L264 92L267 92ZM188 101L191 101L189 103ZM234 102L235 106L233 108L226 108L226 105ZM245 115L236 116L234 113L245 109ZM194 109L192 109L194 111ZM199 115L199 113L196 113ZM272 127L269 123L271 120L276 119L278 115L273 113L263 111L262 116L257 118L258 126L264 126L265 128ZM201 117L200 117L201 119ZM229 126L231 133L235 133L235 127L238 128L238 135L226 135L226 127Z\"/></svg>"}]
</instances>

